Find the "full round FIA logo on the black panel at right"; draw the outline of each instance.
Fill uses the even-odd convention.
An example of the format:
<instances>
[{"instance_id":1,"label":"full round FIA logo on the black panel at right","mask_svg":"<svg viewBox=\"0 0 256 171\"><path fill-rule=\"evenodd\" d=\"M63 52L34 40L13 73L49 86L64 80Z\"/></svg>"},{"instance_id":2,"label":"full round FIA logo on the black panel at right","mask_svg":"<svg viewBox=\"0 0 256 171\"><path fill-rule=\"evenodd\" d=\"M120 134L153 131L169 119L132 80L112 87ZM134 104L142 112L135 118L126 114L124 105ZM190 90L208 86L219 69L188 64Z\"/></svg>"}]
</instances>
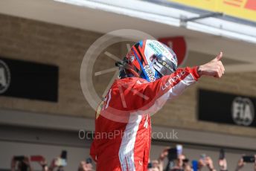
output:
<instances>
[{"instance_id":1,"label":"full round FIA logo on the black panel at right","mask_svg":"<svg viewBox=\"0 0 256 171\"><path fill-rule=\"evenodd\" d=\"M249 98L236 97L232 103L231 114L234 123L249 126L255 119L255 106Z\"/></svg>"}]
</instances>

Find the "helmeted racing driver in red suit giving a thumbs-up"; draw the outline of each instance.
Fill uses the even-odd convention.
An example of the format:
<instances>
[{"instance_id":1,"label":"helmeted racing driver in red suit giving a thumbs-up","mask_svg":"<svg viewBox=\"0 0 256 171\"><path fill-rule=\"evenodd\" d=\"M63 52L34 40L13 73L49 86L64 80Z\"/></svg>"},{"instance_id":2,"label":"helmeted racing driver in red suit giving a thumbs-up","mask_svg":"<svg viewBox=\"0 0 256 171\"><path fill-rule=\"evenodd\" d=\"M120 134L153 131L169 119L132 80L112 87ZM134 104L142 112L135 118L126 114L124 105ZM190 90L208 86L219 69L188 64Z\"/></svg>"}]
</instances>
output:
<instances>
[{"instance_id":1,"label":"helmeted racing driver in red suit giving a thumbs-up","mask_svg":"<svg viewBox=\"0 0 256 171\"><path fill-rule=\"evenodd\" d=\"M100 103L90 155L98 171L144 171L150 155L150 114L178 97L202 75L224 74L220 54L205 65L177 68L176 54L156 40L129 50L115 80Z\"/></svg>"}]
</instances>

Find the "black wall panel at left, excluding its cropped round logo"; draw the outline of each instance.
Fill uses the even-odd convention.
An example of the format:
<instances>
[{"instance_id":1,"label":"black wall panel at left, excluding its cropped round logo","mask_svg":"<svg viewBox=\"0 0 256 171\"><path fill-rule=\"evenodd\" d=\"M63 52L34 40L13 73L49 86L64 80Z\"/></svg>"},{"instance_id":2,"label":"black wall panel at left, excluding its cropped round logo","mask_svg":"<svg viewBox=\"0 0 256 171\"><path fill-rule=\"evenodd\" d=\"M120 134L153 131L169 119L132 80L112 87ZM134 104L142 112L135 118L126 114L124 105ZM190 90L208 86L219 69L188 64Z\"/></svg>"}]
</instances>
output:
<instances>
[{"instance_id":1,"label":"black wall panel at left, excluding its cropped round logo","mask_svg":"<svg viewBox=\"0 0 256 171\"><path fill-rule=\"evenodd\" d=\"M10 69L10 86L0 96L58 101L59 68L0 57Z\"/></svg>"}]
</instances>

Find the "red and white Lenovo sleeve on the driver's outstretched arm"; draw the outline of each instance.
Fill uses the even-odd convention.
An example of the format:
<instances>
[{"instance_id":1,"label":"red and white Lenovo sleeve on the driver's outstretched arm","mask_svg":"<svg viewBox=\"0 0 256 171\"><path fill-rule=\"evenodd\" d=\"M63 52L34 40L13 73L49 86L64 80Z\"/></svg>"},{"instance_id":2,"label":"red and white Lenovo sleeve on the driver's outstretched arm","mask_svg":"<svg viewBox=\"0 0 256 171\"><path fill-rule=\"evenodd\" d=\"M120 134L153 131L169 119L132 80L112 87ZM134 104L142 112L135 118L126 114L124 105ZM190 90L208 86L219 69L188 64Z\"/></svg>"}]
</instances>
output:
<instances>
[{"instance_id":1,"label":"red and white Lenovo sleeve on the driver's outstretched arm","mask_svg":"<svg viewBox=\"0 0 256 171\"><path fill-rule=\"evenodd\" d=\"M166 100L182 94L198 78L197 67L187 67L151 83L140 78L120 80L112 87L113 100L108 105L129 112L157 112Z\"/></svg>"}]
</instances>

